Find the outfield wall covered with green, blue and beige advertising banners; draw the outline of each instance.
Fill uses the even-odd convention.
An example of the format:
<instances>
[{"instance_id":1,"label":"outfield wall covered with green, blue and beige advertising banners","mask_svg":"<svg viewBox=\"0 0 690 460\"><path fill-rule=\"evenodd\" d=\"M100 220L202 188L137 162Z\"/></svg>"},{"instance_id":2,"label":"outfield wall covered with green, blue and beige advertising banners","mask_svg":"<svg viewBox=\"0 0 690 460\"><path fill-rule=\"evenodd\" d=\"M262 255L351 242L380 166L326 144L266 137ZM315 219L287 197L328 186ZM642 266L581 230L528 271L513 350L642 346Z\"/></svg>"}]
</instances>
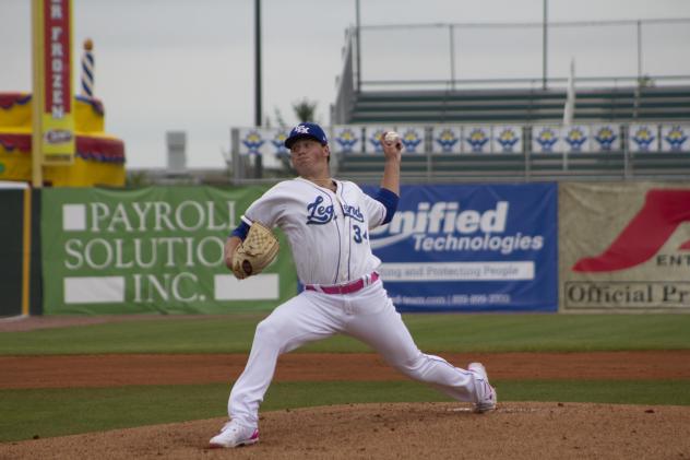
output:
<instances>
[{"instance_id":1,"label":"outfield wall covered with green, blue and beige advertising banners","mask_svg":"<svg viewBox=\"0 0 690 460\"><path fill-rule=\"evenodd\" d=\"M0 316L270 310L299 288L284 235L259 276L223 261L267 188L0 190ZM367 237L401 311L690 312L682 184L403 186Z\"/></svg>"}]
</instances>

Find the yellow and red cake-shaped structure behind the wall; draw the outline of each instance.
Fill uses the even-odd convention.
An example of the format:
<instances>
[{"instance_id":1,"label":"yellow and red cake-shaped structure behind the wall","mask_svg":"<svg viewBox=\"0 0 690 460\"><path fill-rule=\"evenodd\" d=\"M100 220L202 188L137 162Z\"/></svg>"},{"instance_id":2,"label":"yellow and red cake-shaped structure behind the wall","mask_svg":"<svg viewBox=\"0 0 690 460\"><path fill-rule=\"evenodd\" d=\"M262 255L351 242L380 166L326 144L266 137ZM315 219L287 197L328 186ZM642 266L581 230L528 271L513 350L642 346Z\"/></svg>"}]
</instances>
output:
<instances>
[{"instance_id":1,"label":"yellow and red cake-shaped structure behind the wall","mask_svg":"<svg viewBox=\"0 0 690 460\"><path fill-rule=\"evenodd\" d=\"M100 101L76 96L76 154L70 166L44 166L53 187L121 187L124 143L105 132ZM0 180L32 181L32 95L0 93Z\"/></svg>"}]
</instances>

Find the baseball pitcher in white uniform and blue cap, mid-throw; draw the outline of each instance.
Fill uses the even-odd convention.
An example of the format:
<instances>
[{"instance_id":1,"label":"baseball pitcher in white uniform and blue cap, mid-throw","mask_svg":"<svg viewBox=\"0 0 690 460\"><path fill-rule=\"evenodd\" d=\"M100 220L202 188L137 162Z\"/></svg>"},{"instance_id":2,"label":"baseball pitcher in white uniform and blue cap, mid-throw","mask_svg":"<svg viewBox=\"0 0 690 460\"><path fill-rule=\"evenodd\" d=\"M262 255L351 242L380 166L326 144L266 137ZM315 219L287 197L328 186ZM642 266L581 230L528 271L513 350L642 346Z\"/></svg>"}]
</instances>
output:
<instances>
[{"instance_id":1,"label":"baseball pitcher in white uniform and blue cap, mid-throw","mask_svg":"<svg viewBox=\"0 0 690 460\"><path fill-rule=\"evenodd\" d=\"M330 149L316 123L296 126L285 140L299 177L285 180L254 201L225 246L227 267L238 279L261 272L277 253L271 228L278 226L290 245L305 291L261 321L247 366L228 401L229 422L210 447L236 447L259 440L259 405L277 358L308 342L343 333L358 339L394 368L476 412L496 408L496 391L484 366L462 369L424 354L413 341L377 272L369 231L393 217L400 196L400 137L381 137L385 166L373 198L349 181L331 178Z\"/></svg>"}]
</instances>

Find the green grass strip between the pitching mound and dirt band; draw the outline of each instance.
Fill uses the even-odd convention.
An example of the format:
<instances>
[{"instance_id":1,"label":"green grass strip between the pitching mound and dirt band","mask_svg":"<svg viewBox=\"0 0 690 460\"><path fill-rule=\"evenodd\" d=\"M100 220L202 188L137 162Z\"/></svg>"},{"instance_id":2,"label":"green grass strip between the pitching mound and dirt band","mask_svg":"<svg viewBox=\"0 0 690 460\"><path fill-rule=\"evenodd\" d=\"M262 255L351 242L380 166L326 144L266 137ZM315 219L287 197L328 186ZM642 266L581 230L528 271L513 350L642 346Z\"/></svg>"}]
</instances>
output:
<instances>
[{"instance_id":1,"label":"green grass strip between the pitching mound and dirt band","mask_svg":"<svg viewBox=\"0 0 690 460\"><path fill-rule=\"evenodd\" d=\"M500 401L690 405L688 382L495 382ZM576 385L575 385L576 384ZM226 416L229 385L0 390L0 441ZM262 411L371 402L450 401L414 381L275 382ZM209 436L213 435L210 433Z\"/></svg>"}]
</instances>

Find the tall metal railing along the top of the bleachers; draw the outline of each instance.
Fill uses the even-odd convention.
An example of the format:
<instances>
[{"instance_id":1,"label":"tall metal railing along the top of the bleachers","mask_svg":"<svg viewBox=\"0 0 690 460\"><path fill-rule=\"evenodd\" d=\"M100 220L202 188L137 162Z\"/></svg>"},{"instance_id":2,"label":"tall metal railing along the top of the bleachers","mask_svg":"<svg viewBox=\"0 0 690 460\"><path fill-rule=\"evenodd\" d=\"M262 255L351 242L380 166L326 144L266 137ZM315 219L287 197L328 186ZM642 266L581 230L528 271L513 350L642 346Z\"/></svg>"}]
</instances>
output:
<instances>
[{"instance_id":1,"label":"tall metal railing along the top of the bleachers","mask_svg":"<svg viewBox=\"0 0 690 460\"><path fill-rule=\"evenodd\" d=\"M579 64L579 68L584 68L584 71L574 76L575 83L582 86L639 87L690 83L690 63L680 58L687 54L687 47L690 45L690 19L688 17L554 22L547 26L552 34L560 33L567 36L568 33L574 31L578 35L571 39L549 44L547 52L540 38L543 23L390 24L365 25L359 31L353 27L346 34L343 72L337 79L337 96L331 121L333 123L348 122L357 95L366 91L454 92L471 89L566 87L568 72L561 61L570 60L573 55L586 61L583 62L585 66ZM593 31L603 31L605 34L596 44L596 49L587 49L584 44L580 44L583 40L578 38L596 35L591 34ZM396 36L395 34L398 33L400 35ZM472 36L464 36L467 34L478 34L478 36L473 39ZM522 59L520 66L513 68L510 66L499 67L498 70L484 68L487 59L483 54L496 52L496 49L491 49L489 42L493 35L498 34L507 34L504 36L507 46L510 46L511 42L522 45L519 39L522 37L527 45L520 51L531 54L532 59ZM376 36L379 36L379 43ZM361 40L359 44L358 37ZM413 61L406 67L405 63L411 59L425 57L424 54L414 55L406 49L406 46L412 47L414 39L419 37L425 42L424 49L429 54L436 50L438 56L431 62L425 61L417 64ZM617 39L611 39L611 37ZM612 44L617 40L620 42L617 45L622 46L622 49L618 49L617 45ZM377 46L385 47L385 52L379 52ZM655 52L661 49L664 50L663 54ZM361 56L357 56L357 50ZM443 52L447 54L445 58L442 56ZM600 62L607 61L607 52L627 62L629 72L611 75L610 70L602 70ZM369 54L372 56L371 60L366 59ZM386 57L393 66L377 68ZM548 57L552 57L552 61L556 62L551 61L549 64ZM539 69L542 62L545 64L543 69ZM418 72L413 71L417 68L423 68L426 76L423 78ZM661 68L667 70L659 71ZM536 76L539 70L542 70L542 75ZM530 76L525 76L525 72ZM395 76L391 78L392 74Z\"/></svg>"}]
</instances>

